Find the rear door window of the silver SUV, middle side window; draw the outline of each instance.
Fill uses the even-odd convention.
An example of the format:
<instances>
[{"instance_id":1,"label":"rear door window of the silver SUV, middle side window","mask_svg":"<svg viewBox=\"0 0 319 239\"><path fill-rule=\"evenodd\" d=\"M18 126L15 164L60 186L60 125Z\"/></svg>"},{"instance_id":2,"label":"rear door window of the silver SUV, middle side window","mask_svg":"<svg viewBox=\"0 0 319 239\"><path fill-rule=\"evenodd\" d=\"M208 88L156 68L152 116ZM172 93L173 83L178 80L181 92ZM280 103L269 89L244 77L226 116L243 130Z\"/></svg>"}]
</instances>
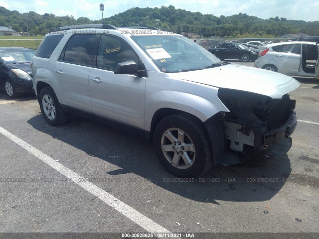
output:
<instances>
[{"instance_id":1,"label":"rear door window of the silver SUV, middle side window","mask_svg":"<svg viewBox=\"0 0 319 239\"><path fill-rule=\"evenodd\" d=\"M92 65L95 39L95 34L73 35L66 45L64 56L63 53L61 54L60 60L74 64Z\"/></svg>"}]
</instances>

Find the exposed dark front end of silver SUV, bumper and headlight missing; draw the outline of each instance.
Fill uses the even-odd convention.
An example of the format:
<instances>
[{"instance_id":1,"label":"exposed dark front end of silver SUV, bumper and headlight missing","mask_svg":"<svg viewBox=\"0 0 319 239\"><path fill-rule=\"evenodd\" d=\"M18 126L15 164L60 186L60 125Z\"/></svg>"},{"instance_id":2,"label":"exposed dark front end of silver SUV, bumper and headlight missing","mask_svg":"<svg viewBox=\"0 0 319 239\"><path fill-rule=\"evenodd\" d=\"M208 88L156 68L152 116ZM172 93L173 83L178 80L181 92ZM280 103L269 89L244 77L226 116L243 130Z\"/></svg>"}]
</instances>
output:
<instances>
[{"instance_id":1,"label":"exposed dark front end of silver SUV, bumper and headlight missing","mask_svg":"<svg viewBox=\"0 0 319 239\"><path fill-rule=\"evenodd\" d=\"M218 98L230 112L205 121L214 163L236 164L261 153L287 153L296 128L296 101L289 95L272 99L256 93L223 89Z\"/></svg>"}]
</instances>

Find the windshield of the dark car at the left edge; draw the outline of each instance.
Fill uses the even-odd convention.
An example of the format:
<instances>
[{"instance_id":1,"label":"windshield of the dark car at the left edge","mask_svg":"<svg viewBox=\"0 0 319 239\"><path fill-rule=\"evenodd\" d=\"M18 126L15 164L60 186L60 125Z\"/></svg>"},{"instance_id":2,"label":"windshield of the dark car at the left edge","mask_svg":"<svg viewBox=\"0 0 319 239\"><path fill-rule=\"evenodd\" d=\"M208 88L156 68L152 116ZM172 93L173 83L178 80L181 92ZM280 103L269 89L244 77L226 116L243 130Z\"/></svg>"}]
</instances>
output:
<instances>
[{"instance_id":1,"label":"windshield of the dark car at the left edge","mask_svg":"<svg viewBox=\"0 0 319 239\"><path fill-rule=\"evenodd\" d=\"M33 50L3 50L0 51L0 58L6 64L29 63L35 51Z\"/></svg>"}]
</instances>

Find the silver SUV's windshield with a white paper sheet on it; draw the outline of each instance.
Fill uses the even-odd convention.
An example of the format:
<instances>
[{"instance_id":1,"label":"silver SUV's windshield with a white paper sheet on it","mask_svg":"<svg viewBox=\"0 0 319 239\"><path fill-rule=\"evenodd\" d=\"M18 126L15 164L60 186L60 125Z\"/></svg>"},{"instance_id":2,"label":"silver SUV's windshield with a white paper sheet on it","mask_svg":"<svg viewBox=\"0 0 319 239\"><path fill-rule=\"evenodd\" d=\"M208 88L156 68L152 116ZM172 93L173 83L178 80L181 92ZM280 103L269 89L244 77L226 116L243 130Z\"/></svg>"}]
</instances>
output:
<instances>
[{"instance_id":1,"label":"silver SUV's windshield with a white paper sheet on it","mask_svg":"<svg viewBox=\"0 0 319 239\"><path fill-rule=\"evenodd\" d=\"M161 72L174 73L221 66L224 63L183 36L132 36Z\"/></svg>"}]
</instances>

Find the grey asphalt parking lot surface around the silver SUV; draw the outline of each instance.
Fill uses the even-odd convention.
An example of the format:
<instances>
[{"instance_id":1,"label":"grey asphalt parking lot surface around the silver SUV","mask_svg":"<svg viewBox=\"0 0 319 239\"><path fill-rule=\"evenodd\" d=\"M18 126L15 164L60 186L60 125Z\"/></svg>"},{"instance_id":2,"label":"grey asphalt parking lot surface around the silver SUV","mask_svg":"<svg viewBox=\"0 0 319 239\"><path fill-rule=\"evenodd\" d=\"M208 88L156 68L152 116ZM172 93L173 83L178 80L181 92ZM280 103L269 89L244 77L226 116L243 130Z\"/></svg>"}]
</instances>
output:
<instances>
[{"instance_id":1,"label":"grey asphalt parking lot surface around the silver SUV","mask_svg":"<svg viewBox=\"0 0 319 239\"><path fill-rule=\"evenodd\" d=\"M50 126L34 96L10 100L1 91L0 238L318 238L310 233L319 233L319 79L298 80L288 154L216 166L194 181L166 172L142 138L78 117Z\"/></svg>"}]
</instances>

